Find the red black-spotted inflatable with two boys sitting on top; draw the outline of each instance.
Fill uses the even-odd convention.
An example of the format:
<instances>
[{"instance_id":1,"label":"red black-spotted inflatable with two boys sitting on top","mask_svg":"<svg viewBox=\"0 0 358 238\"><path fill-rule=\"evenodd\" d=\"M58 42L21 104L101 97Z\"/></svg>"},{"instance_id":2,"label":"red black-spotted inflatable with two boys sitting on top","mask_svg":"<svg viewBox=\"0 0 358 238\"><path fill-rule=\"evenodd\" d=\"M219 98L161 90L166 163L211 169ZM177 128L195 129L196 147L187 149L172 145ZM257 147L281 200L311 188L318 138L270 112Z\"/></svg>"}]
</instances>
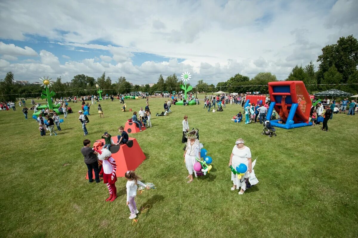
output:
<instances>
[{"instance_id":1,"label":"red black-spotted inflatable with two boys sitting on top","mask_svg":"<svg viewBox=\"0 0 358 238\"><path fill-rule=\"evenodd\" d=\"M114 144L113 142L117 142L117 137L112 136L111 141L112 144ZM105 139L96 140L96 142L93 143L93 147L97 150L101 150L104 142ZM113 159L116 161L117 177L124 177L124 174L128 170L135 170L145 160L145 155L135 138L129 137L127 144L112 145L110 151L112 152ZM94 176L93 174L93 178ZM86 175L86 179L88 179L88 174Z\"/></svg>"}]
</instances>

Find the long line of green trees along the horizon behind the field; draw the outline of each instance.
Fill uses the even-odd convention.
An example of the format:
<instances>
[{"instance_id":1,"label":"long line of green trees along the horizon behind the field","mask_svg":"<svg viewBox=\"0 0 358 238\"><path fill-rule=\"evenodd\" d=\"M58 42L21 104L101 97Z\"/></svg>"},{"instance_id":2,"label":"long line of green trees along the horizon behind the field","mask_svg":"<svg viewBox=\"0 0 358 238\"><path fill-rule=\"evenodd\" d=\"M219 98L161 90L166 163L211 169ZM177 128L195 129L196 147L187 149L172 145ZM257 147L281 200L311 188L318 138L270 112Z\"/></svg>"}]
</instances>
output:
<instances>
[{"instance_id":1,"label":"long line of green trees along the horizon behind the field","mask_svg":"<svg viewBox=\"0 0 358 238\"><path fill-rule=\"evenodd\" d=\"M358 41L353 35L340 37L336 44L327 45L322 49L322 54L318 56L317 62L320 62L318 70L315 69L311 61L304 67L296 65L286 81L303 81L309 93L315 91L324 91L336 88L342 91L356 94L358 91ZM274 74L270 72L261 72L255 77L249 78L241 74L236 74L226 82L214 84L205 83L199 80L194 86L193 91L212 93L216 91L225 92L253 92L268 93L267 83L277 81ZM125 77L119 77L112 82L106 72L97 79L84 74L78 74L73 77L71 82L62 82L58 77L52 84L52 90L57 93L56 97L82 96L97 94L96 84L100 86L103 93L123 94L129 92L148 92L154 94L155 91L180 91L180 79L176 74L163 78L162 74L158 77L157 83L153 87L145 84L144 87L131 85ZM190 83L187 83L187 85ZM331 85L330 85L331 84ZM334 84L334 85L333 85ZM8 72L4 79L0 80L0 101L14 101L16 98L34 97L41 94L42 88L38 84L21 85L15 83L14 74ZM31 93L31 94L30 94ZM34 93L34 94L32 94ZM3 95L18 94L18 95Z\"/></svg>"}]
</instances>

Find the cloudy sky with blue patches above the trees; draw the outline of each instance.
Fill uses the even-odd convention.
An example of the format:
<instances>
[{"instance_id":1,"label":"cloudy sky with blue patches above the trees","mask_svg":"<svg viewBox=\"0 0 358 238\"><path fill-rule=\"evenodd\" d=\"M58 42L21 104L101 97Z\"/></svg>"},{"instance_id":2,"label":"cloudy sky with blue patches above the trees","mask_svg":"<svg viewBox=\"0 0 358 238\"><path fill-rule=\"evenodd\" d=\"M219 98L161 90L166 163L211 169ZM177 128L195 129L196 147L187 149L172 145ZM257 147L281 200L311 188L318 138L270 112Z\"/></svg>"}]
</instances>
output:
<instances>
[{"instance_id":1,"label":"cloudy sky with blue patches above the trees","mask_svg":"<svg viewBox=\"0 0 358 238\"><path fill-rule=\"evenodd\" d=\"M0 1L0 79L76 74L155 83L193 74L285 79L341 36L358 37L358 0ZM318 65L315 62L316 65Z\"/></svg>"}]
</instances>

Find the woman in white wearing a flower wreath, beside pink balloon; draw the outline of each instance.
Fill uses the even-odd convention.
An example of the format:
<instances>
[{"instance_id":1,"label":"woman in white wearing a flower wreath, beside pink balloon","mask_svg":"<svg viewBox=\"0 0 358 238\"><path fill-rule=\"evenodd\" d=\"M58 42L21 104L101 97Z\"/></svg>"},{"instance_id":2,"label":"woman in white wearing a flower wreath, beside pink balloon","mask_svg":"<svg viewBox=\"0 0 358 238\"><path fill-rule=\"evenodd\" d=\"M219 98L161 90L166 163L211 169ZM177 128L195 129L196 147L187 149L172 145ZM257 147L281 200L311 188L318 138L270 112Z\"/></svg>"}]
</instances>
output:
<instances>
[{"instance_id":1,"label":"woman in white wearing a flower wreath, beside pink balloon","mask_svg":"<svg viewBox=\"0 0 358 238\"><path fill-rule=\"evenodd\" d=\"M200 159L200 143L197 139L197 133L196 131L188 132L186 137L188 138L187 147L184 151L184 162L185 166L187 167L187 170L189 172L189 175L187 176L187 179L190 179L188 183L191 183L193 179L193 172L195 174L195 177L197 177L197 173L194 170L194 164L197 162L195 159L196 157Z\"/></svg>"}]
</instances>

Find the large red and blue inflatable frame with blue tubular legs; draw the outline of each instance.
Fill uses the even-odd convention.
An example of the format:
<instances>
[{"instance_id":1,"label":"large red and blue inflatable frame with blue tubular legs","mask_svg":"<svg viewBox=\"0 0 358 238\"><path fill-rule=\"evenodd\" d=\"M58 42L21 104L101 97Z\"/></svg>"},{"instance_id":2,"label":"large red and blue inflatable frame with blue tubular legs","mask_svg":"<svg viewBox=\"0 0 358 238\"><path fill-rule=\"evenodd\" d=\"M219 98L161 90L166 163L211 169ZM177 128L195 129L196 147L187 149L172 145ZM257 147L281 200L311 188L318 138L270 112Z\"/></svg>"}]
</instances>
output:
<instances>
[{"instance_id":1,"label":"large red and blue inflatable frame with blue tubular legs","mask_svg":"<svg viewBox=\"0 0 358 238\"><path fill-rule=\"evenodd\" d=\"M269 82L270 107L266 120L270 120L272 111L280 115L279 120L272 120L271 125L291 129L311 126L309 122L311 99L302 81Z\"/></svg>"}]
</instances>

